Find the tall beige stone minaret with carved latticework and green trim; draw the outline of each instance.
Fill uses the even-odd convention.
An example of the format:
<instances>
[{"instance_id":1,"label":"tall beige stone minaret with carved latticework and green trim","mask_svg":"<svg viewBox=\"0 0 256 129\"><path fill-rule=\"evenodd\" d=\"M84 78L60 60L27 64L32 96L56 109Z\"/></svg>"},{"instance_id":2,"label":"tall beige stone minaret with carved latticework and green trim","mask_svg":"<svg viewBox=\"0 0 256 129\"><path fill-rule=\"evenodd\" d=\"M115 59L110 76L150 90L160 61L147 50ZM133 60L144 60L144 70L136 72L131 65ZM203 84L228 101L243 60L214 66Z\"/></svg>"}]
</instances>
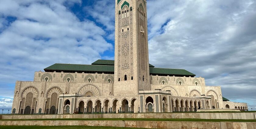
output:
<instances>
[{"instance_id":1,"label":"tall beige stone minaret with carved latticework and green trim","mask_svg":"<svg viewBox=\"0 0 256 129\"><path fill-rule=\"evenodd\" d=\"M151 90L146 0L115 0L114 95Z\"/></svg>"}]
</instances>

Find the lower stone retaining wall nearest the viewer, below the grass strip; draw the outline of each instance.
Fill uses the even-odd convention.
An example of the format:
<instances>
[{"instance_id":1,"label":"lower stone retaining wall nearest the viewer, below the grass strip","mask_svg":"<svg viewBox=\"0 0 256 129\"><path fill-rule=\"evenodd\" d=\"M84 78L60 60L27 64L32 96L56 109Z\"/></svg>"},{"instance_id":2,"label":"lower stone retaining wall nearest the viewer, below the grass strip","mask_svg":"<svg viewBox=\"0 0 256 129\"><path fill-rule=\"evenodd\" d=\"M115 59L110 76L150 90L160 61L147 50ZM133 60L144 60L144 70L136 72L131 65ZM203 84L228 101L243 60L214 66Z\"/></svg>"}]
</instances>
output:
<instances>
[{"instance_id":1,"label":"lower stone retaining wall nearest the viewer, below the grass strip","mask_svg":"<svg viewBox=\"0 0 256 129\"><path fill-rule=\"evenodd\" d=\"M256 129L256 122L181 122L181 121L0 121L0 125L111 126L160 129Z\"/></svg>"}]
</instances>

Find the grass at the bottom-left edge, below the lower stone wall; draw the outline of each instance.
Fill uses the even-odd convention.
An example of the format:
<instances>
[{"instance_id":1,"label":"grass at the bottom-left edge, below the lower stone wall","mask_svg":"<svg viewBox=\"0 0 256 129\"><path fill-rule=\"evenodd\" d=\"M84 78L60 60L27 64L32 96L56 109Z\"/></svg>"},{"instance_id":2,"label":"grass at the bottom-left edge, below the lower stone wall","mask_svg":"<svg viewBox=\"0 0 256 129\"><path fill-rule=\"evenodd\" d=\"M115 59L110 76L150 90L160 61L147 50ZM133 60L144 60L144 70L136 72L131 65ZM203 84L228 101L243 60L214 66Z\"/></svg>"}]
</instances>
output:
<instances>
[{"instance_id":1,"label":"grass at the bottom-left edge, below the lower stone wall","mask_svg":"<svg viewBox=\"0 0 256 129\"><path fill-rule=\"evenodd\" d=\"M146 129L103 126L0 126L0 129Z\"/></svg>"}]
</instances>

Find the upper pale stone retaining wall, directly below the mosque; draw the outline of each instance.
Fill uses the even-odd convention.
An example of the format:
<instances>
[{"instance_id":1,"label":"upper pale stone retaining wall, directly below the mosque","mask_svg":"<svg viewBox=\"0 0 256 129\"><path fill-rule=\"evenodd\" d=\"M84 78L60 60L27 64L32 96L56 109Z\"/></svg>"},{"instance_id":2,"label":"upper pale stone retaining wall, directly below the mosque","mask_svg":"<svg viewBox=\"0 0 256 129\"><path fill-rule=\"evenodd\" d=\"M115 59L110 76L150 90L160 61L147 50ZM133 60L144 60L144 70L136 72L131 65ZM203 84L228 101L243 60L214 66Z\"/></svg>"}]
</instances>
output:
<instances>
[{"instance_id":1,"label":"upper pale stone retaining wall, directly below the mosque","mask_svg":"<svg viewBox=\"0 0 256 129\"><path fill-rule=\"evenodd\" d=\"M2 117L2 118L1 118ZM195 118L255 120L256 113L136 113L136 114L58 114L58 115L0 115L0 119L53 118Z\"/></svg>"}]
</instances>

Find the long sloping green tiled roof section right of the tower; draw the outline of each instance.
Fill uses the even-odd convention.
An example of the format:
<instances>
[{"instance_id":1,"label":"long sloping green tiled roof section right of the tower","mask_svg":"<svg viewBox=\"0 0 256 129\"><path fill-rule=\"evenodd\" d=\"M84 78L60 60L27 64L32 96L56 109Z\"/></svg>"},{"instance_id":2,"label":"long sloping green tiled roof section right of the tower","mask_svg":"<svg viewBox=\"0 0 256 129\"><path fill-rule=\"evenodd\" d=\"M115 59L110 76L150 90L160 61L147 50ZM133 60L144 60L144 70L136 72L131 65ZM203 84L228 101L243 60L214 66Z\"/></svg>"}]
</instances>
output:
<instances>
[{"instance_id":1,"label":"long sloping green tiled roof section right of the tower","mask_svg":"<svg viewBox=\"0 0 256 129\"><path fill-rule=\"evenodd\" d=\"M191 76L194 77L196 76L193 73L188 72L187 70L182 70L182 69L165 69L165 68L149 68L149 73L150 74L158 74L159 76L161 74L164 75L174 75L174 76L178 76L178 75L184 75L184 76Z\"/></svg>"}]
</instances>

